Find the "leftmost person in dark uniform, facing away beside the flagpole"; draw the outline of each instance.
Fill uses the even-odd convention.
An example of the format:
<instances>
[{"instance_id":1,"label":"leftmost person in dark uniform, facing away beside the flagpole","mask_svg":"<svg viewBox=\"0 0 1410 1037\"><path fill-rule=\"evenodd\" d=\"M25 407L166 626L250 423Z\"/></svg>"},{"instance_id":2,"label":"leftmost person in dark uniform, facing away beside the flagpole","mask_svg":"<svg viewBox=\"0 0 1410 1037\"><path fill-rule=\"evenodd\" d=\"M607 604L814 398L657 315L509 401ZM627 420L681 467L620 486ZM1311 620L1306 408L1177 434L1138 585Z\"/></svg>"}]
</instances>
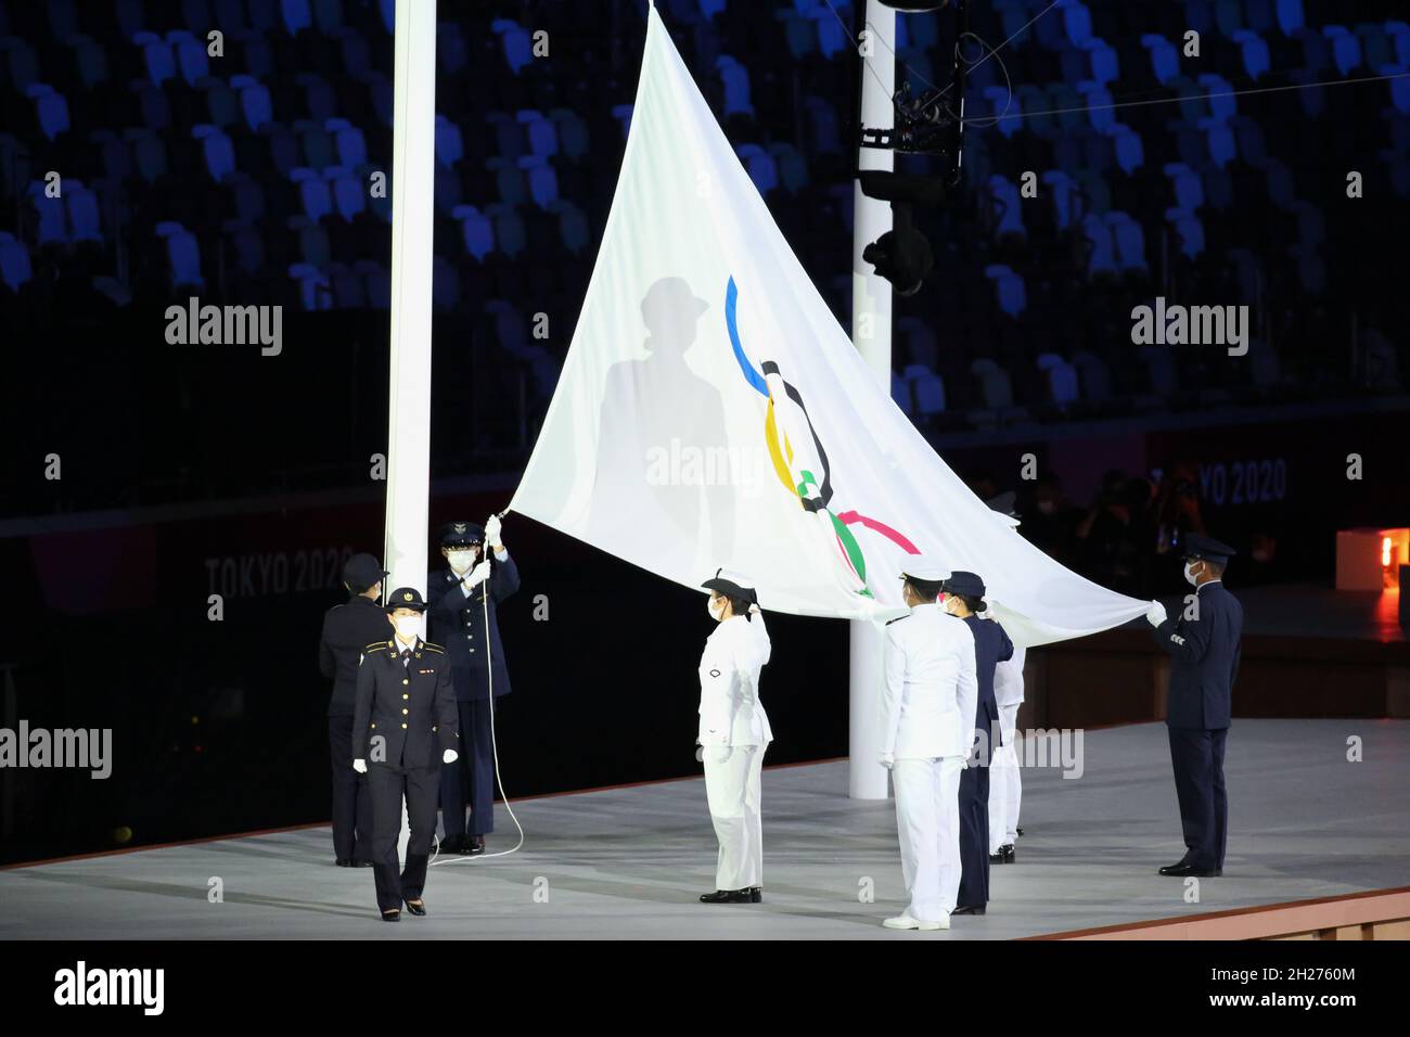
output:
<instances>
[{"instance_id":1,"label":"leftmost person in dark uniform, facing away beside the flagpole","mask_svg":"<svg viewBox=\"0 0 1410 1037\"><path fill-rule=\"evenodd\" d=\"M329 759L333 765L333 856L338 868L372 866L372 799L367 779L352 769L352 705L357 666L368 642L386 638L391 625L378 604L386 570L371 554L343 564L345 604L323 614L319 669L333 680L329 700Z\"/></svg>"}]
</instances>

